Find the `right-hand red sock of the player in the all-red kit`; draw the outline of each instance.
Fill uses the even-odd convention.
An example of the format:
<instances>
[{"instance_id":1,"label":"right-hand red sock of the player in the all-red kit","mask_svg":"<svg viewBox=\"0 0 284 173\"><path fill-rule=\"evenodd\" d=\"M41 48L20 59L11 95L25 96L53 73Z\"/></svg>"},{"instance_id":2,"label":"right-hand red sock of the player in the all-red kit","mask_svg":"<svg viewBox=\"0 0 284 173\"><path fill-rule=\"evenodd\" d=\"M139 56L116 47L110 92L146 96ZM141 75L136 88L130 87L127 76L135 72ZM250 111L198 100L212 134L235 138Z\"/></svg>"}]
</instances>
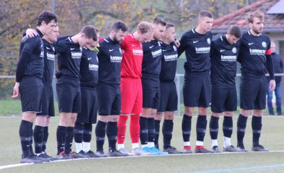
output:
<instances>
[{"instance_id":1,"label":"right-hand red sock of the player in the all-red kit","mask_svg":"<svg viewBox=\"0 0 284 173\"><path fill-rule=\"evenodd\" d=\"M130 136L132 143L139 143L139 133L140 133L139 119L140 119L139 114L134 114L130 116Z\"/></svg>"}]
</instances>

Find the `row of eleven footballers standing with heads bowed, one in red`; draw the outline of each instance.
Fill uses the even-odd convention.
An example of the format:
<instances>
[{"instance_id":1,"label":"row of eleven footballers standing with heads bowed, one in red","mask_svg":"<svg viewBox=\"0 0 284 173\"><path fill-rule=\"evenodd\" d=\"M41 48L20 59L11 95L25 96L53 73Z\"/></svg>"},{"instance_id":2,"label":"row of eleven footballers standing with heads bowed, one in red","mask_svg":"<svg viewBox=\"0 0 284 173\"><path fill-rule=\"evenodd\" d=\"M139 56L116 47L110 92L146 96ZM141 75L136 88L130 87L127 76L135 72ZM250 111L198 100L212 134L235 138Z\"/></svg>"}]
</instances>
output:
<instances>
[{"instance_id":1,"label":"row of eleven footballers standing with heads bowed, one in red","mask_svg":"<svg viewBox=\"0 0 284 173\"><path fill-rule=\"evenodd\" d=\"M266 97L275 88L270 39L263 35L263 12L248 17L250 30L242 34L231 26L212 41L211 12L199 13L197 28L175 41L175 26L159 18L142 21L127 34L123 21L112 24L109 37L99 39L94 26L85 26L73 36L58 37L57 18L44 11L37 29L28 29L21 40L16 84L12 98L21 95L19 127L21 163L42 163L57 159L128 156L125 131L130 117L133 155L190 154L191 119L198 107L195 153L220 152L218 119L224 113L224 152L247 152L243 144L247 117L254 110L253 151L268 151L259 144ZM174 112L177 111L175 73L177 59L184 53L184 116L181 123L184 151L172 147ZM57 127L57 156L45 152L48 125L54 116L53 69L57 57L56 90L60 111ZM231 145L233 111L237 107L236 62L242 65L240 115L237 147ZM204 147L207 107L212 150ZM97 122L98 110L98 122ZM163 118L163 150L159 150L159 129ZM35 128L33 130L33 122ZM96 152L90 149L92 124L96 123ZM109 153L103 152L105 135ZM72 152L73 138L76 152ZM139 147L139 139L141 147ZM35 154L32 143L35 143ZM116 149L116 143L118 148Z\"/></svg>"}]
</instances>

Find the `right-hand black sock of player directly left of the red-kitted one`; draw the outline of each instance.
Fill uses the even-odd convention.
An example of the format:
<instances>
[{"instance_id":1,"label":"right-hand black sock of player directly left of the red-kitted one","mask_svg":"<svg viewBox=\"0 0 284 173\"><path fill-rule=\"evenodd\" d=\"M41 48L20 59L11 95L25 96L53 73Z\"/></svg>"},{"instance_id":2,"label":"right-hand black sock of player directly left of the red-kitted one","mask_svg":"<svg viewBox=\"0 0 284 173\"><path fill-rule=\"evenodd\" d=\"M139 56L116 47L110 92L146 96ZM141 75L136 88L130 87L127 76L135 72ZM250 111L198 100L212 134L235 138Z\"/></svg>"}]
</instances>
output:
<instances>
[{"instance_id":1,"label":"right-hand black sock of player directly left of the red-kitted one","mask_svg":"<svg viewBox=\"0 0 284 173\"><path fill-rule=\"evenodd\" d=\"M107 139L109 140L109 149L116 150L117 122L107 122Z\"/></svg>"}]
</instances>

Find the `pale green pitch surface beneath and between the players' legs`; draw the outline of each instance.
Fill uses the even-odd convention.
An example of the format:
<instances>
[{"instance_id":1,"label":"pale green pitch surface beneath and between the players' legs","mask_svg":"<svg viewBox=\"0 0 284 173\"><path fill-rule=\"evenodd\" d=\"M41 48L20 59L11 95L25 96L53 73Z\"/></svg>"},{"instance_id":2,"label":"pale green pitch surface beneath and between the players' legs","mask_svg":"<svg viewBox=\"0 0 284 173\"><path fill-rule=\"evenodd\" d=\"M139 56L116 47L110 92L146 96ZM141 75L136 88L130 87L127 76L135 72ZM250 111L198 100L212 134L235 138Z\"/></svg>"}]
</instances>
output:
<instances>
[{"instance_id":1,"label":"pale green pitch surface beneath and between the players' legs","mask_svg":"<svg viewBox=\"0 0 284 173\"><path fill-rule=\"evenodd\" d=\"M195 122L193 118L190 143L195 144ZM209 119L209 117L208 117ZM170 156L130 156L127 158L94 158L64 162L44 163L39 165L24 165L1 170L1 166L19 163L21 147L19 145L19 116L0 116L0 172L283 172L284 170L284 116L264 116L263 132L260 143L272 152L267 153L222 153L222 154L181 154ZM232 143L236 145L236 120L234 117ZM49 131L48 154L55 156L55 130L58 117L52 118ZM247 124L245 146L251 149L251 118ZM222 118L219 125L222 126ZM208 129L208 128L207 128ZM130 135L127 132L125 145L131 148ZM210 148L210 136L206 131L205 146ZM162 140L160 138L160 147ZM222 130L218 143L222 146ZM172 145L182 149L181 117L175 118ZM73 145L75 149L75 145ZM91 149L96 150L94 131ZM107 142L105 143L107 151Z\"/></svg>"}]
</instances>

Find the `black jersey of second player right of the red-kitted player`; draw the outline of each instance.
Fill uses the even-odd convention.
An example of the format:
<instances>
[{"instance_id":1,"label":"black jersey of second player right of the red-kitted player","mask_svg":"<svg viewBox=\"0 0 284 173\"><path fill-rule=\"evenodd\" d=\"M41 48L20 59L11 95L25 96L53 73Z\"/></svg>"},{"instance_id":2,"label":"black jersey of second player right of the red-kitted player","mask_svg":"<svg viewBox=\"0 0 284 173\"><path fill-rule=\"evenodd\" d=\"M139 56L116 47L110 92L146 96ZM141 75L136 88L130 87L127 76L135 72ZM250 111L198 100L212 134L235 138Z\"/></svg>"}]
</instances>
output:
<instances>
[{"instance_id":1,"label":"black jersey of second player right of the red-kitted player","mask_svg":"<svg viewBox=\"0 0 284 173\"><path fill-rule=\"evenodd\" d=\"M175 43L161 44L162 58L161 58L161 81L175 80L175 73L177 71L177 46Z\"/></svg>"}]
</instances>

